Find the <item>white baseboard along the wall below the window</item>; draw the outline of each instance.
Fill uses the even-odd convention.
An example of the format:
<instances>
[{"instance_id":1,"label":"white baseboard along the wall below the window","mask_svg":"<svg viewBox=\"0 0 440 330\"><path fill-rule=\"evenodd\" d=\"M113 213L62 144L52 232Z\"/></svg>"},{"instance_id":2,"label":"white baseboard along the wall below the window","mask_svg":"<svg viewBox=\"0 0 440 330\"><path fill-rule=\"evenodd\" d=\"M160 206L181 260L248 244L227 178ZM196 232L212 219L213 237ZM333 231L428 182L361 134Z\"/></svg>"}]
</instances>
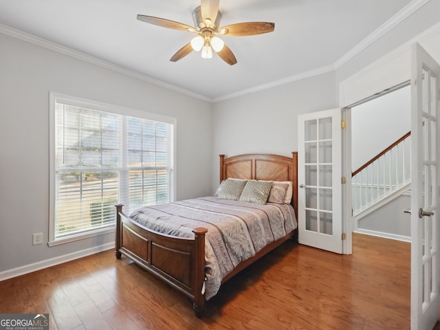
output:
<instances>
[{"instance_id":1,"label":"white baseboard along the wall below the window","mask_svg":"<svg viewBox=\"0 0 440 330\"><path fill-rule=\"evenodd\" d=\"M115 248L115 243L110 242L95 246L94 248L80 250L77 252L65 254L63 256L57 256L52 259L47 259L47 260L39 261L37 263L31 263L29 265L13 268L12 270L5 270L3 272L0 272L0 281L4 281L7 280L8 278L17 277L24 274L36 272L37 270L43 270L44 268L47 267L60 265L61 263L67 263L67 261L83 258L84 256L89 256L91 254L96 254L98 252L107 251L114 248Z\"/></svg>"}]
</instances>

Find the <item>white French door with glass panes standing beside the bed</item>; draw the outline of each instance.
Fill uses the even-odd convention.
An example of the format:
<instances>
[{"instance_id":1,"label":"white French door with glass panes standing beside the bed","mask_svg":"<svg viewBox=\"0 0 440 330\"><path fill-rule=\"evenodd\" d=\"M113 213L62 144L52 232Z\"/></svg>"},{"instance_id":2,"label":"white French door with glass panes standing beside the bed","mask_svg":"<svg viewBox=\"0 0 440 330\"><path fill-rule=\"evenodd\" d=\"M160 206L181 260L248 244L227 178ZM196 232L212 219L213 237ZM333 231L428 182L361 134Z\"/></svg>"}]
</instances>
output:
<instances>
[{"instance_id":1,"label":"white French door with glass panes standing beside the bed","mask_svg":"<svg viewBox=\"0 0 440 330\"><path fill-rule=\"evenodd\" d=\"M298 116L298 241L342 253L341 109Z\"/></svg>"}]
</instances>

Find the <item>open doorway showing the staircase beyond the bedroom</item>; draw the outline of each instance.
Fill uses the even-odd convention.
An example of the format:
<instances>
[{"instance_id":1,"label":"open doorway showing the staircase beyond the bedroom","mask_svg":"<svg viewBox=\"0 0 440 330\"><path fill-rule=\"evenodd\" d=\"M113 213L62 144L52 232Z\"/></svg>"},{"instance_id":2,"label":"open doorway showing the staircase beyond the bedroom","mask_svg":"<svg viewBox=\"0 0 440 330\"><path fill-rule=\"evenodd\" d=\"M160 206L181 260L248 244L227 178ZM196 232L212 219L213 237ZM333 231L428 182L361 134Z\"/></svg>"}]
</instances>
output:
<instances>
[{"instance_id":1,"label":"open doorway showing the staircase beyond the bedroom","mask_svg":"<svg viewBox=\"0 0 440 330\"><path fill-rule=\"evenodd\" d=\"M353 232L410 241L410 85L350 108Z\"/></svg>"}]
</instances>

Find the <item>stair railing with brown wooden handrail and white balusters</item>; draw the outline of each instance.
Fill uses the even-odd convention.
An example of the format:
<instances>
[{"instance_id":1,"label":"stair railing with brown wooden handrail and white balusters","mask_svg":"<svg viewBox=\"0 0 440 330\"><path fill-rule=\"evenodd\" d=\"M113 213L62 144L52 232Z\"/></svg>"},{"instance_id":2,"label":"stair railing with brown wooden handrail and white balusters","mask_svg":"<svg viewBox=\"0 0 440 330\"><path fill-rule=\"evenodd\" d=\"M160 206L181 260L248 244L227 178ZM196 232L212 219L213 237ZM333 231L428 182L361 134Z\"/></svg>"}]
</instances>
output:
<instances>
[{"instance_id":1,"label":"stair railing with brown wooden handrail and white balusters","mask_svg":"<svg viewBox=\"0 0 440 330\"><path fill-rule=\"evenodd\" d=\"M359 220L410 190L408 132L352 173L353 219Z\"/></svg>"}]
</instances>

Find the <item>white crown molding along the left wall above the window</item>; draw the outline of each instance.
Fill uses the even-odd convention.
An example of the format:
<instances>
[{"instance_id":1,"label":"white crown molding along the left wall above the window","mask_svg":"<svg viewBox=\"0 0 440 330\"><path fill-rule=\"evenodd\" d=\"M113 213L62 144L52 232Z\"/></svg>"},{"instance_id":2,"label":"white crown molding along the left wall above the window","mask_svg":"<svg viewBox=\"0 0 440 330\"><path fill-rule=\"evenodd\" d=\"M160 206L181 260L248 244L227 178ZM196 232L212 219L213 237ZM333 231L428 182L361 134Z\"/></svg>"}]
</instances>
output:
<instances>
[{"instance_id":1,"label":"white crown molding along the left wall above the window","mask_svg":"<svg viewBox=\"0 0 440 330\"><path fill-rule=\"evenodd\" d=\"M152 78L147 76L146 74L141 74L139 72L135 72L131 69L127 69L126 67L122 67L120 65L115 65L111 62L104 61L95 56L91 56L82 52L78 52L76 50L72 50L69 47L65 47L63 45L59 45L58 43L53 43L52 41L48 41L46 39L40 38L39 36L34 36L33 34L29 34L27 32L23 32L14 28L10 28L7 25L0 24L0 33L5 34L7 36L12 36L12 38L19 39L28 43L32 43L33 45L37 45L47 50L52 50L54 52L58 52L72 58L76 58L80 61L85 61L87 63L91 63L94 65L98 65L99 67L104 67L105 69L112 70L113 72L118 72L120 74L124 74L126 76L131 76L133 78L143 80L146 83L151 83L153 85L157 85L160 87L164 87L166 89L170 89L172 91L177 91L181 94L185 94L187 96L191 96L192 98L198 98L199 100L203 100L206 102L212 102L212 98L208 98L207 96L203 96L201 94L194 93L193 91L189 91L188 89L184 89L178 87L176 85L172 85L169 83L165 83L162 80Z\"/></svg>"}]
</instances>

